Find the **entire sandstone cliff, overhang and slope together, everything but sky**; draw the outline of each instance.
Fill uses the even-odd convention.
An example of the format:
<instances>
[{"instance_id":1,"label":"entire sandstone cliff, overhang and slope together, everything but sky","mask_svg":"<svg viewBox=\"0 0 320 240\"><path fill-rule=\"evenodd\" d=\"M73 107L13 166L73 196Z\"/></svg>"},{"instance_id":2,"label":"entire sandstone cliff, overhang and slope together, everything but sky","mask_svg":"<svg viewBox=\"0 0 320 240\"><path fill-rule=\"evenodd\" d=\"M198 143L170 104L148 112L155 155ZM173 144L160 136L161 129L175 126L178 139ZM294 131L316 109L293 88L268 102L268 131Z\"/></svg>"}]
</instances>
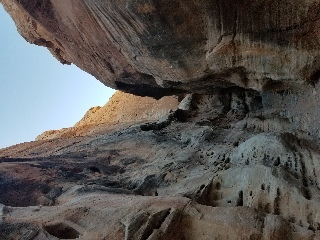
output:
<instances>
[{"instance_id":1,"label":"entire sandstone cliff, overhang and slope together, everything but sky","mask_svg":"<svg viewBox=\"0 0 320 240\"><path fill-rule=\"evenodd\" d=\"M320 239L319 1L1 2L62 63L179 97L1 149L0 239Z\"/></svg>"}]
</instances>

